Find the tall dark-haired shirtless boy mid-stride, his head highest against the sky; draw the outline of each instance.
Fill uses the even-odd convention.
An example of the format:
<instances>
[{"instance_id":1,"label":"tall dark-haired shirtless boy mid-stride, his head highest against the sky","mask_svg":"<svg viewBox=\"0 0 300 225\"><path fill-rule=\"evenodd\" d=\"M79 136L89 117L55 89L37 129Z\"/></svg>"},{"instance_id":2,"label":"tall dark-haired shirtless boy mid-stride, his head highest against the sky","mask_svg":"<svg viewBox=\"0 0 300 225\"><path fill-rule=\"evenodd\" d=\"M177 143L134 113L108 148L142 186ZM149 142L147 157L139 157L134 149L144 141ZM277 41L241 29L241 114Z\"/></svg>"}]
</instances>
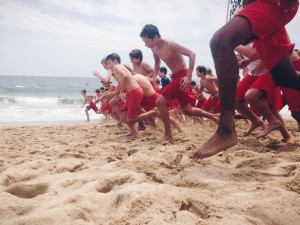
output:
<instances>
[{"instance_id":1,"label":"tall dark-haired shirtless boy mid-stride, his head highest against the sky","mask_svg":"<svg viewBox=\"0 0 300 225\"><path fill-rule=\"evenodd\" d=\"M166 140L173 138L167 101L175 95L178 98L184 114L207 117L217 123L218 118L213 114L204 112L198 108L192 108L192 99L186 92L191 84L192 72L195 65L195 53L174 41L162 39L157 27L152 24L147 24L143 27L140 37L145 42L145 45L151 48L153 52L155 60L154 79L157 79L161 60L163 60L172 71L172 82L166 86L157 99L157 107L165 127L164 138ZM183 56L189 57L189 68L186 68Z\"/></svg>"}]
</instances>

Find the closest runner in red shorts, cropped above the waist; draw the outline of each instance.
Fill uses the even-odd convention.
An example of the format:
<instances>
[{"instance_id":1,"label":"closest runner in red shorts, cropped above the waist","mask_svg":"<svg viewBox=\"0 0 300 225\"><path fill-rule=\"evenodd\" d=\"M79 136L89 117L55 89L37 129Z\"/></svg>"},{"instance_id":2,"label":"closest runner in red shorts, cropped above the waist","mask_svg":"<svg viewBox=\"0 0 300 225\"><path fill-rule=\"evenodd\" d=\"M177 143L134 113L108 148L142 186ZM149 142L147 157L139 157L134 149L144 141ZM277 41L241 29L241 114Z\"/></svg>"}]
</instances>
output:
<instances>
[{"instance_id":1,"label":"closest runner in red shorts, cropped above the waist","mask_svg":"<svg viewBox=\"0 0 300 225\"><path fill-rule=\"evenodd\" d=\"M276 85L300 90L300 76L289 58L293 45L289 44L284 27L296 15L299 0L244 0L244 5L245 8L210 41L219 81L221 118L215 134L193 153L193 159L215 155L238 142L234 126L238 81L236 46L253 39L258 55Z\"/></svg>"}]
</instances>

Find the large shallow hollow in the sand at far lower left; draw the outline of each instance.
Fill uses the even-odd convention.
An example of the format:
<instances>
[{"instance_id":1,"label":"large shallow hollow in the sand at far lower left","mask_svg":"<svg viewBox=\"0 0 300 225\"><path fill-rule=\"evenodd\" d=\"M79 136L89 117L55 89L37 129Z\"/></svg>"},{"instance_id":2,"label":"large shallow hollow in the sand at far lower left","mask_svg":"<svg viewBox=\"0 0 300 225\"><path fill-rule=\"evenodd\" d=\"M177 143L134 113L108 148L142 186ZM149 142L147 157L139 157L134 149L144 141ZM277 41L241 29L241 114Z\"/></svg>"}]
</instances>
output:
<instances>
[{"instance_id":1,"label":"large shallow hollow in the sand at far lower left","mask_svg":"<svg viewBox=\"0 0 300 225\"><path fill-rule=\"evenodd\" d=\"M12 195L18 196L19 198L34 198L38 195L46 193L48 187L49 187L48 183L40 183L40 184L16 183L6 188L4 191Z\"/></svg>"}]
</instances>

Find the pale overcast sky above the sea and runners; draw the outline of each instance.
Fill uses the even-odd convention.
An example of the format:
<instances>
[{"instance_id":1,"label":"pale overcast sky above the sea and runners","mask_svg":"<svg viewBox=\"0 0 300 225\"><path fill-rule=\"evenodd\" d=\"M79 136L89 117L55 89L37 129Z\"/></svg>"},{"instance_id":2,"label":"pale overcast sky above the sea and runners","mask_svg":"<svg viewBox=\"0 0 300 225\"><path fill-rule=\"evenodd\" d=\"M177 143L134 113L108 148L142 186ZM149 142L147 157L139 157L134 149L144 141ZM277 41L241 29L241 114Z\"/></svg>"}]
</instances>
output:
<instances>
[{"instance_id":1,"label":"pale overcast sky above the sea and runners","mask_svg":"<svg viewBox=\"0 0 300 225\"><path fill-rule=\"evenodd\" d=\"M130 64L136 48L153 65L139 37L147 23L214 70L209 40L226 9L227 0L0 0L0 75L89 77L105 73L100 61L112 52ZM287 26L298 48L299 27L300 13Z\"/></svg>"}]
</instances>

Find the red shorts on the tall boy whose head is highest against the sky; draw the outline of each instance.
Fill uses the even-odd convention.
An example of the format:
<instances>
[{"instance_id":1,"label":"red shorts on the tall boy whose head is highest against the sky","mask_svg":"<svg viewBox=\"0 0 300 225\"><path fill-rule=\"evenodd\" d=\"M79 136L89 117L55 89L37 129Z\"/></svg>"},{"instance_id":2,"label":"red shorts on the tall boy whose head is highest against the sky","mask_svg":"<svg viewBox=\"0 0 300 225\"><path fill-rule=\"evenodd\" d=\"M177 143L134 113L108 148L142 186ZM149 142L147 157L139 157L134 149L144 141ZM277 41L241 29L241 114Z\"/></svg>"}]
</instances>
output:
<instances>
[{"instance_id":1,"label":"red shorts on the tall boy whose head is highest against the sky","mask_svg":"<svg viewBox=\"0 0 300 225\"><path fill-rule=\"evenodd\" d=\"M162 91L161 94L167 99L171 99L173 96L177 96L178 102L181 108L184 108L188 104L192 104L193 100L187 91L181 91L180 81L188 73L188 69L182 69L175 74L172 74L172 81Z\"/></svg>"}]
</instances>

